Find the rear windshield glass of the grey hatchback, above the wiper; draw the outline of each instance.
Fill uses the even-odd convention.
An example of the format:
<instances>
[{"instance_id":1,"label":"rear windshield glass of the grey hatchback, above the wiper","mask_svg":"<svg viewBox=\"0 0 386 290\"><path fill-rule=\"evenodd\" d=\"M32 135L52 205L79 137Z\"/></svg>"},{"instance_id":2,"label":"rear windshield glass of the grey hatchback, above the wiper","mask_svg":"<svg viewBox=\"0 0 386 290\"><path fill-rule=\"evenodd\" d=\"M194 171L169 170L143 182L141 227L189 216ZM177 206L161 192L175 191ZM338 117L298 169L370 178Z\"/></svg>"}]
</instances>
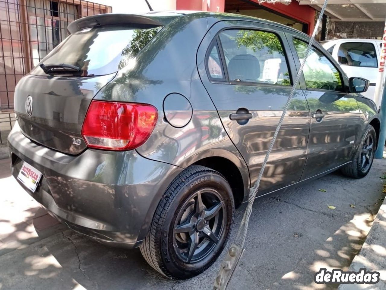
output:
<instances>
[{"instance_id":1,"label":"rear windshield glass of the grey hatchback, above the wiper","mask_svg":"<svg viewBox=\"0 0 386 290\"><path fill-rule=\"evenodd\" d=\"M70 73L73 75L107 75L123 68L161 28L162 26L134 28L115 25L83 29L64 39L41 63L64 63L81 69L80 73ZM39 66L31 73L46 75Z\"/></svg>"}]
</instances>

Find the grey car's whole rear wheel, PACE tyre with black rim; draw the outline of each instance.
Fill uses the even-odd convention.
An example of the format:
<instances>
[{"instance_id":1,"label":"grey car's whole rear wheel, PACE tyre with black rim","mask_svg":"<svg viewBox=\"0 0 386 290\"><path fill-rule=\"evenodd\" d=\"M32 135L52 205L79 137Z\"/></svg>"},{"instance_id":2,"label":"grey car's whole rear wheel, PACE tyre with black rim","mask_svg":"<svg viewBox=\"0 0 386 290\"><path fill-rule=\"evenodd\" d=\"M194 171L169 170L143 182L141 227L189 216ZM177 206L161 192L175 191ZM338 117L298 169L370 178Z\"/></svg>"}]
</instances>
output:
<instances>
[{"instance_id":1,"label":"grey car's whole rear wheel, PACE tyre with black rim","mask_svg":"<svg viewBox=\"0 0 386 290\"><path fill-rule=\"evenodd\" d=\"M234 208L232 189L219 172L200 165L188 167L159 202L140 246L142 256L168 278L200 274L227 243Z\"/></svg>"}]
</instances>

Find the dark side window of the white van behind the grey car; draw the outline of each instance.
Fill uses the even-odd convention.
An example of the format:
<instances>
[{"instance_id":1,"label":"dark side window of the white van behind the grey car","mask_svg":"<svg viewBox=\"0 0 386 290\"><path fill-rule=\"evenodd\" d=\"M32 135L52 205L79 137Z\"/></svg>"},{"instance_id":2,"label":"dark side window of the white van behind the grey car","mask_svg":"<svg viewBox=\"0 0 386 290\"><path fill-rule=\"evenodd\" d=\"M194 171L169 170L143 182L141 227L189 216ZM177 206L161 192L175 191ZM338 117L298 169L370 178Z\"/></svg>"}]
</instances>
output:
<instances>
[{"instance_id":1,"label":"dark side window of the white van behind the grey car","mask_svg":"<svg viewBox=\"0 0 386 290\"><path fill-rule=\"evenodd\" d=\"M377 53L372 43L346 42L339 46L338 61L350 67L378 67Z\"/></svg>"}]
</instances>

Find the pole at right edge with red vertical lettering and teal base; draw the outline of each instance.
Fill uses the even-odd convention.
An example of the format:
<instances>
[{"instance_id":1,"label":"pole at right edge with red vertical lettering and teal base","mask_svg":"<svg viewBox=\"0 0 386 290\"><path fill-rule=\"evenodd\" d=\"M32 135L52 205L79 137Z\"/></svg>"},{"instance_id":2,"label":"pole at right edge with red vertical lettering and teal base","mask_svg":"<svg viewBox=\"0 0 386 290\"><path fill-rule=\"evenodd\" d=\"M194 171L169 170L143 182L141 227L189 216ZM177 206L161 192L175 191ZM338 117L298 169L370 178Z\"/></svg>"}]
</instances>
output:
<instances>
[{"instance_id":1,"label":"pole at right edge with red vertical lettering and teal base","mask_svg":"<svg viewBox=\"0 0 386 290\"><path fill-rule=\"evenodd\" d=\"M383 29L383 38L382 38L382 49L381 49L381 60L379 61L379 75L381 76L378 78L379 80L379 87L383 87L383 94L382 94L382 102L381 107L379 109L379 118L381 119L381 129L379 133L379 141L378 141L378 148L375 152L375 158L376 159L382 159L383 158L383 149L384 144L386 141L386 87L385 87L385 63L386 63L386 22ZM379 94L382 91L382 89L379 89ZM377 92L376 92L377 93ZM377 98L378 97L378 98ZM379 99L379 95L375 96L375 99Z\"/></svg>"}]
</instances>

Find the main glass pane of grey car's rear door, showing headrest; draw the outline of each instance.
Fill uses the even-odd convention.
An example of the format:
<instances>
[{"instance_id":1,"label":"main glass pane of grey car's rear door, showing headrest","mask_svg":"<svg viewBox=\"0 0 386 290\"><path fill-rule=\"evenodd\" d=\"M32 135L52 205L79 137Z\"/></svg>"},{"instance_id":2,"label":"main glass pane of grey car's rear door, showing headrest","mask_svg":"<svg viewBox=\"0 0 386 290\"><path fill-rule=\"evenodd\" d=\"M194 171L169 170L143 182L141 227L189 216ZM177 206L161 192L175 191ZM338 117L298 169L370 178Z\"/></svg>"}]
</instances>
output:
<instances>
[{"instance_id":1,"label":"main glass pane of grey car's rear door, showing headrest","mask_svg":"<svg viewBox=\"0 0 386 290\"><path fill-rule=\"evenodd\" d=\"M276 34L229 29L220 33L230 81L291 85L283 46Z\"/></svg>"}]
</instances>

